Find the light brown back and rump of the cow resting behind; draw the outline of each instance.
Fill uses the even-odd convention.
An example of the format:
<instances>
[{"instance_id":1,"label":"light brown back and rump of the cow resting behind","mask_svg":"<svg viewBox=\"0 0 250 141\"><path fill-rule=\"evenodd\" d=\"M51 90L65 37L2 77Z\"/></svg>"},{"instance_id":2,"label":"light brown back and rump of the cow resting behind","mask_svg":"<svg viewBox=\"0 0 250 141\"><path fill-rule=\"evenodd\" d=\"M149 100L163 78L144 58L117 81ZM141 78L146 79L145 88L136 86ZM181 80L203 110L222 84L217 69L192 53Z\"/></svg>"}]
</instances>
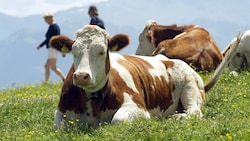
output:
<instances>
[{"instance_id":1,"label":"light brown back and rump of the cow resting behind","mask_svg":"<svg viewBox=\"0 0 250 141\"><path fill-rule=\"evenodd\" d=\"M201 27L193 27L187 32L177 35L173 40L163 40L154 54L159 53L169 58L181 59L192 64L199 70L210 71L215 69L222 61L222 55L210 34Z\"/></svg>"}]
</instances>

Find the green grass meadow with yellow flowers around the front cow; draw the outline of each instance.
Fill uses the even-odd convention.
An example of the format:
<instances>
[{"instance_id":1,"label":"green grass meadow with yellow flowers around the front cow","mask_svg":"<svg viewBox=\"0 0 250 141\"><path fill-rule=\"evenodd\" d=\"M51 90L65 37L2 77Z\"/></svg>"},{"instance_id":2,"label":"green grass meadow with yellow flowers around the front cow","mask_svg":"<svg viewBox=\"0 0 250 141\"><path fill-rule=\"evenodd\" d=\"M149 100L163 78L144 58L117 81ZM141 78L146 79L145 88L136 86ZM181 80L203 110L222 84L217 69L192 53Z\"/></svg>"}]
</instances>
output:
<instances>
[{"instance_id":1,"label":"green grass meadow with yellow flowers around the front cow","mask_svg":"<svg viewBox=\"0 0 250 141\"><path fill-rule=\"evenodd\" d=\"M210 74L201 74L206 81ZM250 139L250 73L223 73L206 95L204 117L138 119L98 129L54 130L61 83L0 90L0 140L239 140Z\"/></svg>"}]
</instances>

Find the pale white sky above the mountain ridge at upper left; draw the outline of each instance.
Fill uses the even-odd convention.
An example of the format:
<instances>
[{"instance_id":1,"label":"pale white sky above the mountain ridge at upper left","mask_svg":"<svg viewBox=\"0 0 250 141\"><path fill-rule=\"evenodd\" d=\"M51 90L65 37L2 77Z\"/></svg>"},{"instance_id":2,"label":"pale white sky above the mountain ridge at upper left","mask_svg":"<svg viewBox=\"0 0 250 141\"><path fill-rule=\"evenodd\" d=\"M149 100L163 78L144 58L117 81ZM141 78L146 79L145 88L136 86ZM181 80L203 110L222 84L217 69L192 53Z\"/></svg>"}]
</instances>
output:
<instances>
[{"instance_id":1,"label":"pale white sky above the mountain ridge at upper left","mask_svg":"<svg viewBox=\"0 0 250 141\"><path fill-rule=\"evenodd\" d=\"M0 0L0 12L8 15L26 17L57 12L75 6L88 6L108 0Z\"/></svg>"}]
</instances>

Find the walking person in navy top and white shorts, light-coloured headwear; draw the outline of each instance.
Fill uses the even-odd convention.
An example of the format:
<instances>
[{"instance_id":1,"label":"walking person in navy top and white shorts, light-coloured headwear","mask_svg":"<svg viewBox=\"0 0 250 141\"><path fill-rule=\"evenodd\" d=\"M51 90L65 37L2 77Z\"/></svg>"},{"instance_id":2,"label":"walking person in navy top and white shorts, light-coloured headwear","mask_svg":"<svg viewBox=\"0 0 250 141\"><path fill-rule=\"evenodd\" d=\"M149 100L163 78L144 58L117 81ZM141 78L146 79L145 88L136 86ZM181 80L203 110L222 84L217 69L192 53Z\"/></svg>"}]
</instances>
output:
<instances>
[{"instance_id":1,"label":"walking person in navy top and white shorts, light-coloured headwear","mask_svg":"<svg viewBox=\"0 0 250 141\"><path fill-rule=\"evenodd\" d=\"M48 50L48 58L45 64L45 83L49 82L50 69L53 70L64 81L65 77L63 72L56 66L59 51L49 46L50 38L55 35L60 35L60 28L58 24L55 23L54 16L52 13L44 14L43 18L45 22L49 25L49 28L47 30L47 33L45 34L46 39L39 46L37 46L37 50L42 48L44 45L46 45ZM63 57L65 57L65 54L63 54Z\"/></svg>"}]
</instances>

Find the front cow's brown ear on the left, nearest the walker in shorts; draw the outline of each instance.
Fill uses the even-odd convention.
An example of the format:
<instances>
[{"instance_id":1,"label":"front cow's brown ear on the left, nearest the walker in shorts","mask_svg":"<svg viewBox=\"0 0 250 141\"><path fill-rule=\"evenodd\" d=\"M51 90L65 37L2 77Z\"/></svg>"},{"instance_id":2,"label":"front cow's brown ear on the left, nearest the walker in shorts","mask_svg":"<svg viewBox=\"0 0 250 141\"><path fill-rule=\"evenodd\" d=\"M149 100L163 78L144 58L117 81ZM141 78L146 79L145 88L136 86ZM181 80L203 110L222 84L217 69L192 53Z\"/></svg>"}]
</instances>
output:
<instances>
[{"instance_id":1,"label":"front cow's brown ear on the left, nearest the walker in shorts","mask_svg":"<svg viewBox=\"0 0 250 141\"><path fill-rule=\"evenodd\" d=\"M74 40L64 35L56 35L51 37L49 44L62 53L69 53L72 49Z\"/></svg>"}]
</instances>

